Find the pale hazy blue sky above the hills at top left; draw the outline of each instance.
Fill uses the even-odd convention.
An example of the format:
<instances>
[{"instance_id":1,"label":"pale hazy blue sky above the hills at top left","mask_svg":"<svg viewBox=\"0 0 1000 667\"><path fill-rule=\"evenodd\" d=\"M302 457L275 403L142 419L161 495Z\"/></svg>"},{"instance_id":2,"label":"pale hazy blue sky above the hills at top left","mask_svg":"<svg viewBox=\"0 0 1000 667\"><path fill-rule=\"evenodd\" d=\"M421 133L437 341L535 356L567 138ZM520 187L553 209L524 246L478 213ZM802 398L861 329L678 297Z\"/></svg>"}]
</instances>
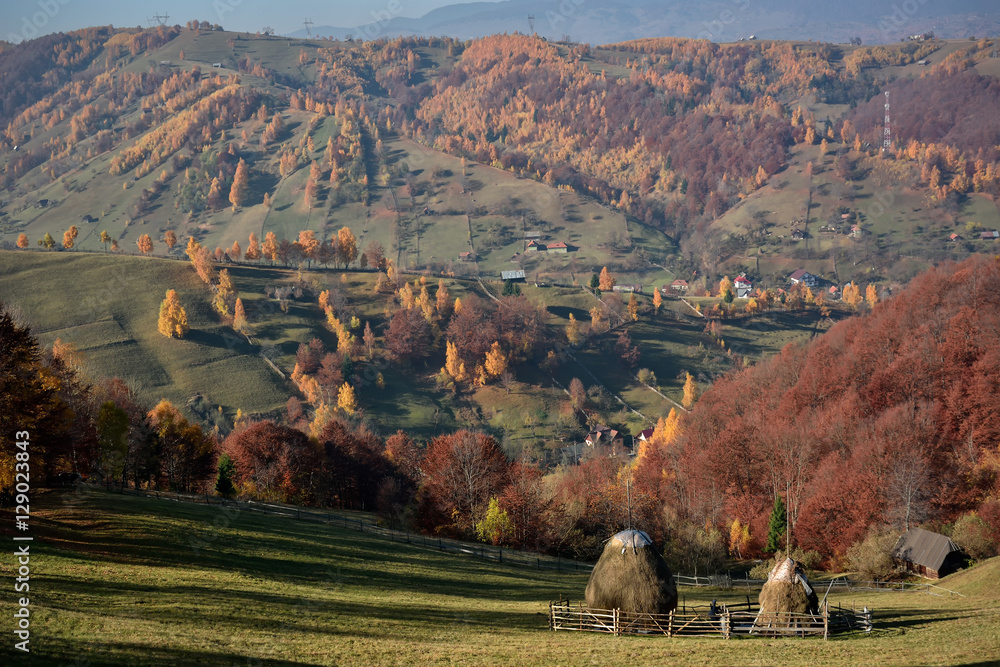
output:
<instances>
[{"instance_id":1,"label":"pale hazy blue sky above the hills at top left","mask_svg":"<svg viewBox=\"0 0 1000 667\"><path fill-rule=\"evenodd\" d=\"M491 0L487 0L491 1ZM492 0L495 1L495 0ZM147 25L154 14L168 14L169 24L191 19L219 23L227 30L256 32L271 26L278 34L317 26L351 28L389 17L423 16L461 0L0 0L0 39L20 41L50 32L94 25ZM338 35L335 35L338 36Z\"/></svg>"}]
</instances>

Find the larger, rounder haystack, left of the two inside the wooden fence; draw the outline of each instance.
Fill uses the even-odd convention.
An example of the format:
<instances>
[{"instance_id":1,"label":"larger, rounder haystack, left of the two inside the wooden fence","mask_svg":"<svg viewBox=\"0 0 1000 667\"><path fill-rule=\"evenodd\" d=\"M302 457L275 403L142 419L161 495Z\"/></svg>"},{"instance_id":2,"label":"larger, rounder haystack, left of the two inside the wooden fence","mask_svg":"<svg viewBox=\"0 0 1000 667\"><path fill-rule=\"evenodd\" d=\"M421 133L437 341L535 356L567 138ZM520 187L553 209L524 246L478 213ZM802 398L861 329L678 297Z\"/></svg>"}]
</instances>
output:
<instances>
[{"instance_id":1,"label":"larger, rounder haystack, left of the two inside the wooden fence","mask_svg":"<svg viewBox=\"0 0 1000 667\"><path fill-rule=\"evenodd\" d=\"M668 614L677 608L677 585L649 535L623 530L605 545L586 597L591 608Z\"/></svg>"}]
</instances>

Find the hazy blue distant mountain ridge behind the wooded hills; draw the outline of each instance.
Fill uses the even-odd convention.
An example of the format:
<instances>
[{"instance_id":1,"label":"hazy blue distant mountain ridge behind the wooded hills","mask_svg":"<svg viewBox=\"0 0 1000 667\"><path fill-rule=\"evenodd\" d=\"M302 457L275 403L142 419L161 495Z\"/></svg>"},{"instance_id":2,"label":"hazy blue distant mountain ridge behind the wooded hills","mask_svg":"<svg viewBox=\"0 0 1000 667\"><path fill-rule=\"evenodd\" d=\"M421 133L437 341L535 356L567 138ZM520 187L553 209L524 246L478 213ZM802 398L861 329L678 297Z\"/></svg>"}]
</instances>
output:
<instances>
[{"instance_id":1,"label":"hazy blue distant mountain ridge behind the wooded hills","mask_svg":"<svg viewBox=\"0 0 1000 667\"><path fill-rule=\"evenodd\" d=\"M398 16L390 3L372 10L370 23L354 28L321 25L314 36L347 34L361 39L396 36L451 36L471 39L496 33L534 31L548 39L607 44L643 37L694 37L731 42L763 39L896 42L933 31L939 37L1000 34L1000 7L992 0L844 0L804 6L797 0L505 0L440 7L420 18ZM297 30L291 37L305 37Z\"/></svg>"}]
</instances>

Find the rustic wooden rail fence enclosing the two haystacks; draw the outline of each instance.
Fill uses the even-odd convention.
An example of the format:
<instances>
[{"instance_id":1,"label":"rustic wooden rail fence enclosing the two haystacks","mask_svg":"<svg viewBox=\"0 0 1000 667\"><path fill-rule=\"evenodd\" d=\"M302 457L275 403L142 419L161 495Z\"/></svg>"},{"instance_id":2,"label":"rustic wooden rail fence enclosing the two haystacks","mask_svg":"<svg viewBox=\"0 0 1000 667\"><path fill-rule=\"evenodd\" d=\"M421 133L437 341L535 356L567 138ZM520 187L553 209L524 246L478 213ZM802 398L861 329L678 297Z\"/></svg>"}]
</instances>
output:
<instances>
[{"instance_id":1,"label":"rustic wooden rail fence enclosing the two haystacks","mask_svg":"<svg viewBox=\"0 0 1000 667\"><path fill-rule=\"evenodd\" d=\"M844 632L871 632L872 612L831 610L823 605L819 614L736 611L727 607L669 614L642 614L620 609L590 609L569 601L549 603L549 629L603 632L621 635L665 635L667 637L823 637Z\"/></svg>"}]
</instances>

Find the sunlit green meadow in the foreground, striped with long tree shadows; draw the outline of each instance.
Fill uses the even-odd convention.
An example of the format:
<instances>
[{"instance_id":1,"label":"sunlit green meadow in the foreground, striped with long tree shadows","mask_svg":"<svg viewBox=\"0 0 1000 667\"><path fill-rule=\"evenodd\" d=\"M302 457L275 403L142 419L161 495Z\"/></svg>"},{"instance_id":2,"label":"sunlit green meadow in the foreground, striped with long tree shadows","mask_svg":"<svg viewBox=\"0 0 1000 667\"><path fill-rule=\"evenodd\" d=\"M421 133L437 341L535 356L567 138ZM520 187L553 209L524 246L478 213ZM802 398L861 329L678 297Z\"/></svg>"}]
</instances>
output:
<instances>
[{"instance_id":1,"label":"sunlit green meadow in the foreground, striped with long tree shadows","mask_svg":"<svg viewBox=\"0 0 1000 667\"><path fill-rule=\"evenodd\" d=\"M1000 655L998 559L940 582L961 598L831 594L875 610L867 636L616 638L547 629L548 601L581 599L585 575L218 506L98 490L34 500L32 664L985 665ZM745 599L680 593L689 606ZM0 654L11 659L11 642Z\"/></svg>"}]
</instances>

